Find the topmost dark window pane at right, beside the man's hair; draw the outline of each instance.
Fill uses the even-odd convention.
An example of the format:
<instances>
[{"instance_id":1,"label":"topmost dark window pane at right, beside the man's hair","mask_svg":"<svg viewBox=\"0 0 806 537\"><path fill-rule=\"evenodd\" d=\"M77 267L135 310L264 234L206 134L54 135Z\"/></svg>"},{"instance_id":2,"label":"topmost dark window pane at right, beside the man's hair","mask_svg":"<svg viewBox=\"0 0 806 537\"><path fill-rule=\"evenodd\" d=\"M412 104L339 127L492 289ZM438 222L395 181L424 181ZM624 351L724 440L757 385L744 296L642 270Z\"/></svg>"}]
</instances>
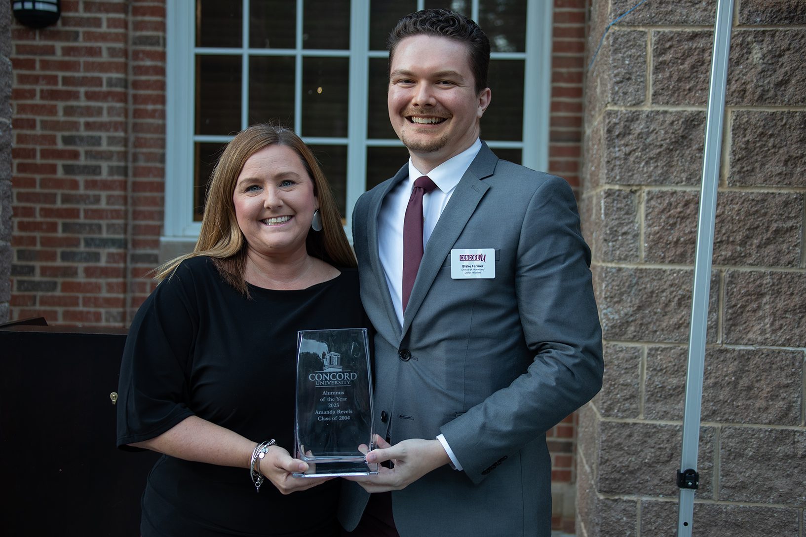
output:
<instances>
[{"instance_id":1,"label":"topmost dark window pane at right, beside the man's hair","mask_svg":"<svg viewBox=\"0 0 806 537\"><path fill-rule=\"evenodd\" d=\"M479 19L492 52L526 52L526 0L480 0Z\"/></svg>"}]
</instances>

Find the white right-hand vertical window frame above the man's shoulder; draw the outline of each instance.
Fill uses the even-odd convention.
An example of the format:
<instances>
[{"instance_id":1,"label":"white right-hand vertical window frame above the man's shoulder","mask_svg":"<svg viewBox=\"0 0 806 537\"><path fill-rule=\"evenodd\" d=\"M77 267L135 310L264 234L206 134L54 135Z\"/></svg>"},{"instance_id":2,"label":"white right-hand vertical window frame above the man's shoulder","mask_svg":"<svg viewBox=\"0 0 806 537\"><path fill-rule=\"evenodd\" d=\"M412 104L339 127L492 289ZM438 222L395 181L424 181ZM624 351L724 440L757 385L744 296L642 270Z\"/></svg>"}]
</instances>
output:
<instances>
[{"instance_id":1,"label":"white right-hand vertical window frame above the man's shoulder","mask_svg":"<svg viewBox=\"0 0 806 537\"><path fill-rule=\"evenodd\" d=\"M526 72L523 76L522 163L533 170L549 168L551 114L551 38L554 2L526 3Z\"/></svg>"}]
</instances>

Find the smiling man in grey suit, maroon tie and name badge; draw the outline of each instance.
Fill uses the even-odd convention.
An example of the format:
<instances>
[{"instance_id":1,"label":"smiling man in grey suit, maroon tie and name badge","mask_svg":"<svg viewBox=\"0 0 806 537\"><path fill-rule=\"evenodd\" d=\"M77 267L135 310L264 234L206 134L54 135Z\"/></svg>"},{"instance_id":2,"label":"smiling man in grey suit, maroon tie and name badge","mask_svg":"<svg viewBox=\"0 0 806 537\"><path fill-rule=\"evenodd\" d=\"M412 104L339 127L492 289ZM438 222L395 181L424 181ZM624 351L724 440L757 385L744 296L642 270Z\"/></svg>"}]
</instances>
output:
<instances>
[{"instance_id":1,"label":"smiling man in grey suit, maroon tie and name badge","mask_svg":"<svg viewBox=\"0 0 806 537\"><path fill-rule=\"evenodd\" d=\"M476 23L419 11L389 43L389 119L410 159L361 196L353 238L377 331L367 459L392 464L350 478L363 489L345 488L340 519L350 535L547 536L545 433L602 374L574 196L480 142L491 92Z\"/></svg>"}]
</instances>

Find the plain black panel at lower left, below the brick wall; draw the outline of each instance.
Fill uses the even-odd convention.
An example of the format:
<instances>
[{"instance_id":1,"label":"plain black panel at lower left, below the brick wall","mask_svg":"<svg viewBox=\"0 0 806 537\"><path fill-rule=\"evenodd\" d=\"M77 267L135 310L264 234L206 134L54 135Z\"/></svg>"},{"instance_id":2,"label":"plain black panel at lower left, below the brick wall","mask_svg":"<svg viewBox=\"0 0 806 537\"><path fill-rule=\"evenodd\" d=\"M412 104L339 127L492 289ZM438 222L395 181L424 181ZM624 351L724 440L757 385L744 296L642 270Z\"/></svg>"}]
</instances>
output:
<instances>
[{"instance_id":1,"label":"plain black panel at lower left, below the brick wall","mask_svg":"<svg viewBox=\"0 0 806 537\"><path fill-rule=\"evenodd\" d=\"M4 535L139 535L154 452L115 448L119 330L0 328Z\"/></svg>"}]
</instances>

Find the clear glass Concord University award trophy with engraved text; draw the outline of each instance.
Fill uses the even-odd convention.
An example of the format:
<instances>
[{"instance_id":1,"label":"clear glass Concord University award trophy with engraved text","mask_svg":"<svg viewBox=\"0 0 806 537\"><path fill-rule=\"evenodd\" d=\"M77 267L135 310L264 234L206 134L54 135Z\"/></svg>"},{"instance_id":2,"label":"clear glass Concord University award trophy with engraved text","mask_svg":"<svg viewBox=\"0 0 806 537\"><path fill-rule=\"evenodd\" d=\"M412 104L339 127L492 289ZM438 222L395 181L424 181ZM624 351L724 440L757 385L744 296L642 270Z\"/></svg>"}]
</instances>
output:
<instances>
[{"instance_id":1,"label":"clear glass Concord University award trophy with engraved text","mask_svg":"<svg viewBox=\"0 0 806 537\"><path fill-rule=\"evenodd\" d=\"M378 473L359 449L374 434L367 328L298 332L294 457L308 470L293 476Z\"/></svg>"}]
</instances>

